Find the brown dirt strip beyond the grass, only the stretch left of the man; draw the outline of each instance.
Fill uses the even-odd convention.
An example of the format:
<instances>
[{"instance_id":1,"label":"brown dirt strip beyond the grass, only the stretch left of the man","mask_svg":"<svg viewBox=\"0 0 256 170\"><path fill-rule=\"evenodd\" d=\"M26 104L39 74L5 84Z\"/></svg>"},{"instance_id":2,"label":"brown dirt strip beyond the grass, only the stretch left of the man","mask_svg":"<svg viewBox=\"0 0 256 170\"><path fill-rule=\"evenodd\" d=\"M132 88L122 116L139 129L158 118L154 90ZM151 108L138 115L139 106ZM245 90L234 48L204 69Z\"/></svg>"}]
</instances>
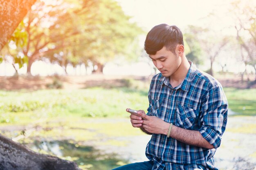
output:
<instances>
[{"instance_id":1,"label":"brown dirt strip beyond the grass, only the stretch left of the man","mask_svg":"<svg viewBox=\"0 0 256 170\"><path fill-rule=\"evenodd\" d=\"M143 76L110 76L103 74L92 74L86 76L0 76L0 89L3 90L38 90L47 89L49 84L61 83L62 89L81 89L86 87L94 87L105 85L104 87L120 87L124 86L122 79L145 79Z\"/></svg>"}]
</instances>

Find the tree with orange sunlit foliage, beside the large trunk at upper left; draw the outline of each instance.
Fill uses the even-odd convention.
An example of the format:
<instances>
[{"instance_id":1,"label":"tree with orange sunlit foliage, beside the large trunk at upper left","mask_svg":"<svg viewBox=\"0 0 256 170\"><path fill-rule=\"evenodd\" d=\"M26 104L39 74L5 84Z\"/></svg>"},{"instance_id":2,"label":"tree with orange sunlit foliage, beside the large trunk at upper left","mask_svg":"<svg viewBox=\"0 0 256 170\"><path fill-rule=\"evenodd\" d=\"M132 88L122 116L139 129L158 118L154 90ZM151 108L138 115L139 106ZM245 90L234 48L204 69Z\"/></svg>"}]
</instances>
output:
<instances>
[{"instance_id":1,"label":"tree with orange sunlit foliage, beside the large trunk at upper left","mask_svg":"<svg viewBox=\"0 0 256 170\"><path fill-rule=\"evenodd\" d=\"M28 40L25 48L21 50L28 58L28 74L31 73L31 65L34 61L52 54L53 51L74 45L72 40L81 30L75 24L76 11L71 7L68 3L61 3L60 0L52 3L37 1L32 6L32 10L24 19L24 31Z\"/></svg>"}]
</instances>

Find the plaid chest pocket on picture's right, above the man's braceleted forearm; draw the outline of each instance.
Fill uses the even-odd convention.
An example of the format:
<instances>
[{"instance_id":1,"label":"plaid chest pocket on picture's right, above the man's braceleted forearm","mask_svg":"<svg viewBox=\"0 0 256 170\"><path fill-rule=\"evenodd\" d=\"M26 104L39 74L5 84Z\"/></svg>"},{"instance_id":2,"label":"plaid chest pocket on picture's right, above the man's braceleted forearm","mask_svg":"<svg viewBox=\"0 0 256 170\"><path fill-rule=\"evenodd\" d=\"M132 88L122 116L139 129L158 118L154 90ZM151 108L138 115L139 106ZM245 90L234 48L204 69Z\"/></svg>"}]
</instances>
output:
<instances>
[{"instance_id":1,"label":"plaid chest pocket on picture's right, above the man's braceleted forearm","mask_svg":"<svg viewBox=\"0 0 256 170\"><path fill-rule=\"evenodd\" d=\"M195 130L197 117L198 113L196 110L177 105L174 124L184 129Z\"/></svg>"}]
</instances>

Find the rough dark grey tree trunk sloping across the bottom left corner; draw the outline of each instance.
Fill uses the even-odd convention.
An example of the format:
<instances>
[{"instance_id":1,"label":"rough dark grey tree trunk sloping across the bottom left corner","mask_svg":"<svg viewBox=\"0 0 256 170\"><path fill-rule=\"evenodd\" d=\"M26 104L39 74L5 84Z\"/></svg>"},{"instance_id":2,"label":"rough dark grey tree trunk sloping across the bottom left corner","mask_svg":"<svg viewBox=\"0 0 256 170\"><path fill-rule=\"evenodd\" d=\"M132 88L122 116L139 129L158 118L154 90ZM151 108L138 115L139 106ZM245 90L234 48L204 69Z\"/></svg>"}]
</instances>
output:
<instances>
[{"instance_id":1,"label":"rough dark grey tree trunk sloping across the bottom left corner","mask_svg":"<svg viewBox=\"0 0 256 170\"><path fill-rule=\"evenodd\" d=\"M80 170L76 163L39 154L0 135L1 170Z\"/></svg>"}]
</instances>

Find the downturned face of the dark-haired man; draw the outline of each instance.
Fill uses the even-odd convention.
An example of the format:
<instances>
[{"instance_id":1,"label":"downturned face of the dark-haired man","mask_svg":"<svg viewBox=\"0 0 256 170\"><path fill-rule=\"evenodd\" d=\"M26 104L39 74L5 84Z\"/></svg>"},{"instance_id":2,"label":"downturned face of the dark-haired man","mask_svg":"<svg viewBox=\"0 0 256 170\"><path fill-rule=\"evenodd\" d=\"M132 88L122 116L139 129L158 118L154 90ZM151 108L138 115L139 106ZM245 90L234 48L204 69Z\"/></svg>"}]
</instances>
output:
<instances>
[{"instance_id":1,"label":"downturned face of the dark-haired man","mask_svg":"<svg viewBox=\"0 0 256 170\"><path fill-rule=\"evenodd\" d=\"M177 47L176 54L167 50L164 46L161 50L157 51L154 55L149 55L155 67L162 73L164 77L173 75L181 64L181 57L178 54Z\"/></svg>"}]
</instances>

